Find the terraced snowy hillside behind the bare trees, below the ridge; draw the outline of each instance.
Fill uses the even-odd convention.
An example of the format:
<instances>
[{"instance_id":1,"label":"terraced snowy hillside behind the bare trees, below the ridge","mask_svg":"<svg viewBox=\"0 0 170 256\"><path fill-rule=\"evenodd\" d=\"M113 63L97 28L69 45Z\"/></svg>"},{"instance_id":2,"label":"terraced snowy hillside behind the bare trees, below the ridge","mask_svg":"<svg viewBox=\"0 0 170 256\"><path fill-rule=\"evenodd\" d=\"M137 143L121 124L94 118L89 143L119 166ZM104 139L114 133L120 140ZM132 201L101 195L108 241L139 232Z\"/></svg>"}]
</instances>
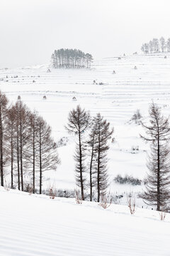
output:
<instances>
[{"instance_id":1,"label":"terraced snowy hillside behind the bare trees, below the ridge","mask_svg":"<svg viewBox=\"0 0 170 256\"><path fill-rule=\"evenodd\" d=\"M69 139L67 146L58 149L62 164L56 172L45 174L45 186L75 188L74 138L64 130L64 124L67 124L69 110L79 104L90 110L91 115L101 112L114 127L115 142L108 153L109 189L113 193L142 189L117 185L113 178L117 174L145 177L149 146L140 139L141 127L129 121L137 109L145 119L152 100L169 114L170 55L166 55L167 58L164 54L106 58L94 61L91 70L50 68L51 72L47 73L48 65L0 70L0 89L9 100L15 102L21 95L21 100L32 110L38 110L52 126L56 141L62 137ZM101 82L103 85L99 85ZM47 100L42 99L44 95ZM77 101L73 101L73 97ZM132 151L136 146L139 151Z\"/></svg>"}]
</instances>

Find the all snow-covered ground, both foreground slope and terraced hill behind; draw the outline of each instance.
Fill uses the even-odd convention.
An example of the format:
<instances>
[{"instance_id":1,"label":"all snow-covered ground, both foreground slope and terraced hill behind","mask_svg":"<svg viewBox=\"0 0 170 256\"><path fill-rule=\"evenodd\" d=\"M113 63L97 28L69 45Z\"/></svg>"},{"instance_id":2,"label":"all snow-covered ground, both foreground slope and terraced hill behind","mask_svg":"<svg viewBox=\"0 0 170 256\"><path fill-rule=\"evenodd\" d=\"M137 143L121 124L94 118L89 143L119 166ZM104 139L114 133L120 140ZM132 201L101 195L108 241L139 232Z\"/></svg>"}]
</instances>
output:
<instances>
[{"instance_id":1,"label":"all snow-covered ground, both foreground slope and terraced hill behind","mask_svg":"<svg viewBox=\"0 0 170 256\"><path fill-rule=\"evenodd\" d=\"M75 188L75 142L64 124L68 112L79 104L91 115L101 112L114 127L115 141L108 152L108 190L123 195L117 203L124 206L112 203L104 210L94 202L78 205L74 198L52 200L1 187L0 256L169 256L169 213L161 221L158 212L145 209L147 206L137 198L138 208L130 215L126 193L138 193L142 186L119 185L113 178L117 174L145 177L149 145L140 139L142 127L129 121L137 109L145 121L152 100L169 115L170 55L106 58L95 61L91 70L50 68L47 73L48 68L0 70L0 89L10 102L21 95L21 100L52 126L56 142L67 137L67 145L58 148L62 164L57 171L45 174L44 188Z\"/></svg>"}]
</instances>

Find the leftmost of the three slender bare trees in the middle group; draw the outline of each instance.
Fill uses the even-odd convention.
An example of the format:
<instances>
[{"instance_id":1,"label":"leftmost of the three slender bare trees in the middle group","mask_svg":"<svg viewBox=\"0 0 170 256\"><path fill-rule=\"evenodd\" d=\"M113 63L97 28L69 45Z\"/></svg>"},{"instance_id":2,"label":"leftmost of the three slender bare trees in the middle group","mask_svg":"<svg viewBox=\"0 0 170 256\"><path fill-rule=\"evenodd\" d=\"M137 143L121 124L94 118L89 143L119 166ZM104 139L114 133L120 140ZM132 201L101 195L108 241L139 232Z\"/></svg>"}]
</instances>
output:
<instances>
[{"instance_id":1,"label":"leftmost of the three slender bare trees in the middle group","mask_svg":"<svg viewBox=\"0 0 170 256\"><path fill-rule=\"evenodd\" d=\"M74 159L77 162L75 166L76 181L77 186L81 188L82 200L84 200L84 181L86 180L86 178L83 175L86 171L86 166L84 164L86 154L84 153L83 134L89 125L89 117L89 112L82 110L81 107L78 105L76 110L73 109L69 112L68 124L65 127L68 132L72 132L76 134L78 137Z\"/></svg>"}]
</instances>

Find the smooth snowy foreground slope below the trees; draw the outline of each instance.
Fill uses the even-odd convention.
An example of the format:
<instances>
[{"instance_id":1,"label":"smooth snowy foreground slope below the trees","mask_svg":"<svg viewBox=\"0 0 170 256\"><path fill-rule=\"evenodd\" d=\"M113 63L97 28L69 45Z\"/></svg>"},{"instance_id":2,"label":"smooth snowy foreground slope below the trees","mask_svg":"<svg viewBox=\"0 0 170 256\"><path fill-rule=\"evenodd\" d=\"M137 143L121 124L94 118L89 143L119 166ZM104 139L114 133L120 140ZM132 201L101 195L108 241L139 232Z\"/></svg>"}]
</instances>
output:
<instances>
[{"instance_id":1,"label":"smooth snowy foreground slope below the trees","mask_svg":"<svg viewBox=\"0 0 170 256\"><path fill-rule=\"evenodd\" d=\"M170 215L0 188L1 256L168 256Z\"/></svg>"}]
</instances>

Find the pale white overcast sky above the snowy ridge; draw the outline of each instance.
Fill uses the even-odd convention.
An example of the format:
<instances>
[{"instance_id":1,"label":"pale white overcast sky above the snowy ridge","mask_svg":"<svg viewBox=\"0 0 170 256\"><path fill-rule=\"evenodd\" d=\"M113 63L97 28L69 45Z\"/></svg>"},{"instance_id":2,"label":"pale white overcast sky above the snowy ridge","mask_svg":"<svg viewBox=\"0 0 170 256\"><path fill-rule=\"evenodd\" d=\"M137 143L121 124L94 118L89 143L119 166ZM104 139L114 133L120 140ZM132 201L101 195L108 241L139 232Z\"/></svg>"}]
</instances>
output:
<instances>
[{"instance_id":1,"label":"pale white overcast sky above the snowy ridge","mask_svg":"<svg viewBox=\"0 0 170 256\"><path fill-rule=\"evenodd\" d=\"M94 58L170 37L170 0L0 0L0 68L50 62L53 50Z\"/></svg>"}]
</instances>

